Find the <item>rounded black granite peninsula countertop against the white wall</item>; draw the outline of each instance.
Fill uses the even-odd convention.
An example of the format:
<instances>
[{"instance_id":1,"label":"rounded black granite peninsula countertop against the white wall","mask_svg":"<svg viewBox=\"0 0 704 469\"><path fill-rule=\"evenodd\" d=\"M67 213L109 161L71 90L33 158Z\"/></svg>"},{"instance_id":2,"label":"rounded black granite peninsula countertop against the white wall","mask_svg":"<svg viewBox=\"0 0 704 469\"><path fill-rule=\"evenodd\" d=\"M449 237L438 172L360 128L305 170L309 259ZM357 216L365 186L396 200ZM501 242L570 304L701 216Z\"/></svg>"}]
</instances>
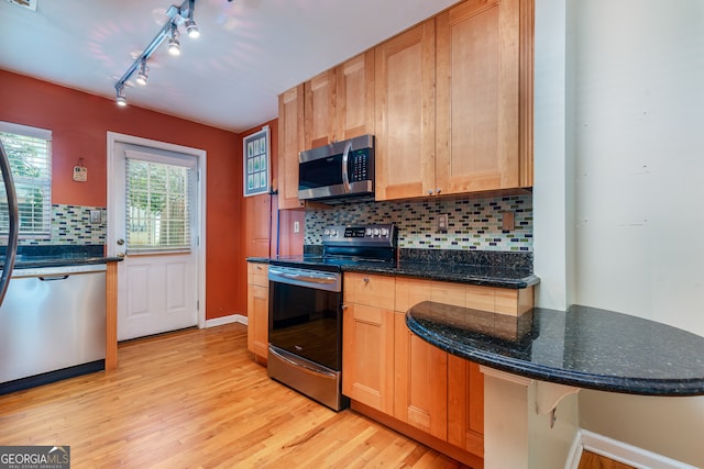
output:
<instances>
[{"instance_id":1,"label":"rounded black granite peninsula countertop against the white wall","mask_svg":"<svg viewBox=\"0 0 704 469\"><path fill-rule=\"evenodd\" d=\"M704 337L595 308L515 317L422 302L410 331L459 357L542 381L642 395L704 394Z\"/></svg>"}]
</instances>

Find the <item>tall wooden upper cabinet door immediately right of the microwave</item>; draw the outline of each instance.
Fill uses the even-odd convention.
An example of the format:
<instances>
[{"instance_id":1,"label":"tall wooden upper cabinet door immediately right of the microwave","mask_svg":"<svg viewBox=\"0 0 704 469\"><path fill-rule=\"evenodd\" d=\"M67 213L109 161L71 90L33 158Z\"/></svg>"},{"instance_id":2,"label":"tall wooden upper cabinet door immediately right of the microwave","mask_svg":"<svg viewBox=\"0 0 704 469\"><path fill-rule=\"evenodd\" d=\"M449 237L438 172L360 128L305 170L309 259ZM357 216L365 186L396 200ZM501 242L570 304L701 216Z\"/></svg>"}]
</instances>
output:
<instances>
[{"instance_id":1,"label":"tall wooden upper cabinet door immediately right of the microwave","mask_svg":"<svg viewBox=\"0 0 704 469\"><path fill-rule=\"evenodd\" d=\"M435 191L435 20L375 48L376 200Z\"/></svg>"}]
</instances>

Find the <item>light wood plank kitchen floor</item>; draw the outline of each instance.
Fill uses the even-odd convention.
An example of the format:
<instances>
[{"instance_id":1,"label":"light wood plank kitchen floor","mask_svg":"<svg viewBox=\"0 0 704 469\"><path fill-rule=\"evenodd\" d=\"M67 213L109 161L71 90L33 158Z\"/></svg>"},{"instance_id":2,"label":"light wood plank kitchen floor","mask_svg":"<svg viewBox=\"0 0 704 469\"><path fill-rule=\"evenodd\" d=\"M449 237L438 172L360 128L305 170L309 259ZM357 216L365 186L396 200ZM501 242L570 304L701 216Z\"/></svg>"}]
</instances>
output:
<instances>
[{"instance_id":1,"label":"light wood plank kitchen floor","mask_svg":"<svg viewBox=\"0 0 704 469\"><path fill-rule=\"evenodd\" d=\"M121 344L117 370L0 397L0 445L68 445L74 468L459 468L272 381L229 324Z\"/></svg>"}]
</instances>

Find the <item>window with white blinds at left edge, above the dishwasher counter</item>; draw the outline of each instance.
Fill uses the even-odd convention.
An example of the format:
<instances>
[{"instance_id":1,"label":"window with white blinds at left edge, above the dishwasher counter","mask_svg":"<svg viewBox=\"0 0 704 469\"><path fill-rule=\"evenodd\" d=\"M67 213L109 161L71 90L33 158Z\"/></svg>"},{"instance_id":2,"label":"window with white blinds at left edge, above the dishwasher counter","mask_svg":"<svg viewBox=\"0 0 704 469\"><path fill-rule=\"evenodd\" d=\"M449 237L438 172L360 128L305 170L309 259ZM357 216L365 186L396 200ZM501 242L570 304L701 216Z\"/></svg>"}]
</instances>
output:
<instances>
[{"instance_id":1,"label":"window with white blinds at left edge, above the dishwasher counter","mask_svg":"<svg viewBox=\"0 0 704 469\"><path fill-rule=\"evenodd\" d=\"M0 141L10 160L14 180L22 238L51 237L52 132L0 122ZM0 178L0 235L10 228L8 198Z\"/></svg>"}]
</instances>

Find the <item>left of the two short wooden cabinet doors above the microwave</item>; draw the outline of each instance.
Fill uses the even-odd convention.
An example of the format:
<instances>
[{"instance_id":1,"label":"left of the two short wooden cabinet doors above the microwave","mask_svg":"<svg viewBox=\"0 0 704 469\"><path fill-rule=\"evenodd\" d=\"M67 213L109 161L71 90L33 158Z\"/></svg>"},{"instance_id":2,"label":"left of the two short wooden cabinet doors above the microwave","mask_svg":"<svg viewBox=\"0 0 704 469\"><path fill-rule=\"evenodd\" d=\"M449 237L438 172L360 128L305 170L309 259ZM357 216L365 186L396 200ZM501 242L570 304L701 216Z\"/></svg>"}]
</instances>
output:
<instances>
[{"instance_id":1,"label":"left of the two short wooden cabinet doors above the microwave","mask_svg":"<svg viewBox=\"0 0 704 469\"><path fill-rule=\"evenodd\" d=\"M336 70L330 69L304 83L304 149L336 141Z\"/></svg>"}]
</instances>

